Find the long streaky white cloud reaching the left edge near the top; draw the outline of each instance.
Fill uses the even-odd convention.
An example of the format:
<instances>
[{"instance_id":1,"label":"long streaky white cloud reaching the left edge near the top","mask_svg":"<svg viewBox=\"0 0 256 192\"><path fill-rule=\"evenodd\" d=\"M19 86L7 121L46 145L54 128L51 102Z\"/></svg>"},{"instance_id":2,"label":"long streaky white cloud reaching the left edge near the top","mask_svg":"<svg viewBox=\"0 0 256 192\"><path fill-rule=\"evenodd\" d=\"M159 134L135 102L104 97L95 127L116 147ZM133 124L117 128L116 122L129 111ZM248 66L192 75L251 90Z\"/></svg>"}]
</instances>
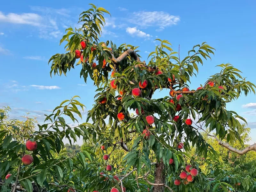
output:
<instances>
[{"instance_id":1,"label":"long streaky white cloud reaching the left edge near the top","mask_svg":"<svg viewBox=\"0 0 256 192\"><path fill-rule=\"evenodd\" d=\"M4 15L3 12L0 12L0 22L40 26L41 20L42 17L35 13L8 13Z\"/></svg>"}]
</instances>

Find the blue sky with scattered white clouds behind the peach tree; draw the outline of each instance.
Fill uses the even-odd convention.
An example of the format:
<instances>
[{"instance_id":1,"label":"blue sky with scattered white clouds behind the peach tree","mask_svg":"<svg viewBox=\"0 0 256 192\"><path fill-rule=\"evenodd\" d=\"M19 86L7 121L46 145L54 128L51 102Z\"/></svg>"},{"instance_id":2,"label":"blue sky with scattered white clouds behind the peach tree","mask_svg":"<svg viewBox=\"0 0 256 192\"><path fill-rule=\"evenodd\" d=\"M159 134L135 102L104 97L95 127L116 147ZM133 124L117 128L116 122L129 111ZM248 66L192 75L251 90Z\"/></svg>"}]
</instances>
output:
<instances>
[{"instance_id":1,"label":"blue sky with scattered white clouds behind the peach tree","mask_svg":"<svg viewBox=\"0 0 256 192\"><path fill-rule=\"evenodd\" d=\"M82 2L81 2L82 3ZM95 87L92 81L84 84L79 77L80 66L67 77L50 77L49 58L64 52L59 40L70 25L77 26L80 12L89 3L107 9L106 26L101 41L112 40L140 46L142 60L154 51L154 39L167 39L174 51L180 44L181 57L187 56L193 45L206 41L216 49L212 61L199 67L191 89L204 84L207 78L220 71L216 65L231 63L243 71L247 80L256 83L256 2L253 1L88 1L74 4L66 0L2 1L0 2L0 107L9 105L11 117L19 118L26 112L38 117L50 113L62 100L79 95L90 109ZM164 97L168 91L156 93ZM256 97L229 103L245 117L252 128L252 142L256 142ZM84 119L86 113L84 113Z\"/></svg>"}]
</instances>

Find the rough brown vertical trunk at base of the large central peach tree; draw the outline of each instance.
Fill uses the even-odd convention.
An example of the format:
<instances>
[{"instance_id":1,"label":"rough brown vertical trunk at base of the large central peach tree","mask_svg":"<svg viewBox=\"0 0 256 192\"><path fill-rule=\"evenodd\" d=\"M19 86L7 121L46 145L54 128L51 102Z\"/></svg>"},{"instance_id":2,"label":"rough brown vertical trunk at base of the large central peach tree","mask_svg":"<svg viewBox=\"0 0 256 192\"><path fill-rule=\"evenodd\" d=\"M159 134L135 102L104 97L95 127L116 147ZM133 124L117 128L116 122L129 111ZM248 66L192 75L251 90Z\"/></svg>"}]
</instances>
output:
<instances>
[{"instance_id":1,"label":"rough brown vertical trunk at base of the large central peach tree","mask_svg":"<svg viewBox=\"0 0 256 192\"><path fill-rule=\"evenodd\" d=\"M156 164L154 183L165 183L165 166L163 159L161 159L160 163ZM153 192L164 192L164 186L154 187Z\"/></svg>"}]
</instances>

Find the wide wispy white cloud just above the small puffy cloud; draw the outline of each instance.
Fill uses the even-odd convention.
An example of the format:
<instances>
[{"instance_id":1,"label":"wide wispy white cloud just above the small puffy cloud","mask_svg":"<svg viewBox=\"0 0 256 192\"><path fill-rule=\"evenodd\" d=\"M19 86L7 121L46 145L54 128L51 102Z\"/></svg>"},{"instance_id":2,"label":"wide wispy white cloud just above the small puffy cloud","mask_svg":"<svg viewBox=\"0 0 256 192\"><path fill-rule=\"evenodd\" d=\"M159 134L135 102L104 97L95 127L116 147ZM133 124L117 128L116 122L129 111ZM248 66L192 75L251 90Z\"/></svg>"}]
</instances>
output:
<instances>
[{"instance_id":1,"label":"wide wispy white cloud just above the small puffy cloud","mask_svg":"<svg viewBox=\"0 0 256 192\"><path fill-rule=\"evenodd\" d=\"M169 13L163 11L133 12L131 17L133 19L128 20L131 23L139 23L141 27L159 27L158 30L163 30L165 27L177 25L177 23L180 21L179 16L170 15Z\"/></svg>"}]
</instances>

